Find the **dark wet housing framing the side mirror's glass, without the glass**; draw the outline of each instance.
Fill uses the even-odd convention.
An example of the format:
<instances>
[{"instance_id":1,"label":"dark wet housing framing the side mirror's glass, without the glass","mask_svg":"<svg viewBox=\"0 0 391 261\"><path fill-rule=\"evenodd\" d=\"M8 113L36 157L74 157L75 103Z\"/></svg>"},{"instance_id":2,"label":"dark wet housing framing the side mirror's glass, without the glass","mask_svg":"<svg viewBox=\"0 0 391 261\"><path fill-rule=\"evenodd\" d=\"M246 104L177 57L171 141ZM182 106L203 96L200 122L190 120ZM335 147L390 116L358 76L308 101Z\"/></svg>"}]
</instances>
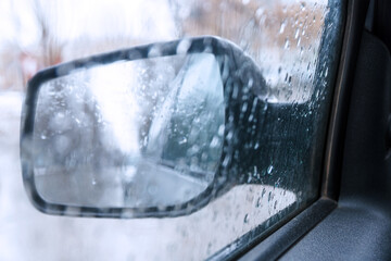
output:
<instances>
[{"instance_id":1,"label":"dark wet housing framing the side mirror's glass, without the glass","mask_svg":"<svg viewBox=\"0 0 391 261\"><path fill-rule=\"evenodd\" d=\"M147 207L86 206L48 200L37 188L35 153L35 123L38 97L43 84L73 75L80 70L90 70L122 61L139 61L174 55L212 54L218 65L224 96L224 138L222 153L212 181L200 194L177 203ZM193 73L193 72L189 72ZM96 217L165 217L190 214L211 200L219 197L232 186L243 183L240 162L242 137L248 137L249 119L262 119L263 97L267 94L265 79L254 63L240 48L217 37L195 37L181 40L159 42L125 50L99 54L87 59L60 64L39 72L28 83L22 115L21 161L23 181L33 204L48 214L96 216ZM253 123L262 126L262 121ZM258 128L258 127L257 127ZM254 132L254 129L253 129ZM173 166L175 169L175 166ZM61 188L60 188L61 189Z\"/></svg>"}]
</instances>

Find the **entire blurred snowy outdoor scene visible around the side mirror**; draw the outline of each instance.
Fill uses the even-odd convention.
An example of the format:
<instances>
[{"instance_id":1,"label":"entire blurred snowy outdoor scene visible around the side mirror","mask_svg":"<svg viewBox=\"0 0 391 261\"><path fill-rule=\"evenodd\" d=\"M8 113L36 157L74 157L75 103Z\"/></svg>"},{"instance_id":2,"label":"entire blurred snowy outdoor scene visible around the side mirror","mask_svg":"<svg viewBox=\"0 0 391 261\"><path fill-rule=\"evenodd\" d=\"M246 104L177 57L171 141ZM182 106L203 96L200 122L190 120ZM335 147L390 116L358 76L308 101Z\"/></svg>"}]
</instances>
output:
<instances>
[{"instance_id":1,"label":"entire blurred snowy outdoor scene visible around the side mirror","mask_svg":"<svg viewBox=\"0 0 391 261\"><path fill-rule=\"evenodd\" d=\"M267 191L269 200L260 204L265 192L239 186L176 219L43 215L23 189L21 108L28 79L41 69L197 35L224 37L250 54L270 102L304 102L312 95L327 12L326 1L312 0L1 0L0 260L200 260L291 204L295 198L287 196L276 208L273 197L280 190Z\"/></svg>"}]
</instances>

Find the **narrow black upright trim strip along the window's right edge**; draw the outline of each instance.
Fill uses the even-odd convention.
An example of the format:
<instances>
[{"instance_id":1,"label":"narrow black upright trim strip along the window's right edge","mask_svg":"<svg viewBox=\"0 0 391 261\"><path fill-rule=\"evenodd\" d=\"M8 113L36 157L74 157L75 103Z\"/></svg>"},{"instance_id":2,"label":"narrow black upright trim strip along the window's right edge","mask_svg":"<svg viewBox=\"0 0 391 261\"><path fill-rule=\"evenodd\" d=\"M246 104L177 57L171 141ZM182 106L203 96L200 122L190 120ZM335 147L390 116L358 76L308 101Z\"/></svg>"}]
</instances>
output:
<instances>
[{"instance_id":1,"label":"narrow black upright trim strip along the window's right edge","mask_svg":"<svg viewBox=\"0 0 391 261\"><path fill-rule=\"evenodd\" d=\"M339 198L343 140L354 71L368 4L369 0L351 0L348 2L346 25L330 115L321 187L321 196L333 200Z\"/></svg>"}]
</instances>

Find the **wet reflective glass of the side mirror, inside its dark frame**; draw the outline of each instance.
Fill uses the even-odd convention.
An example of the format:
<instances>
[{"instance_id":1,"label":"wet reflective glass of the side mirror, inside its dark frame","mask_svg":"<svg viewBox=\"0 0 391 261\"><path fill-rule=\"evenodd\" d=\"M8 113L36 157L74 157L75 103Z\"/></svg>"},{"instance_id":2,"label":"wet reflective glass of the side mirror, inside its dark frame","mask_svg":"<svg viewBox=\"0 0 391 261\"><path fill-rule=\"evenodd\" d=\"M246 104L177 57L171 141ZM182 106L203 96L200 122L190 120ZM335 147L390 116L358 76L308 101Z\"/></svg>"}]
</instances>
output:
<instances>
[{"instance_id":1,"label":"wet reflective glass of the side mirror, inside its dark frame","mask_svg":"<svg viewBox=\"0 0 391 261\"><path fill-rule=\"evenodd\" d=\"M224 89L213 54L74 70L40 86L33 154L52 203L146 208L184 203L219 165Z\"/></svg>"}]
</instances>

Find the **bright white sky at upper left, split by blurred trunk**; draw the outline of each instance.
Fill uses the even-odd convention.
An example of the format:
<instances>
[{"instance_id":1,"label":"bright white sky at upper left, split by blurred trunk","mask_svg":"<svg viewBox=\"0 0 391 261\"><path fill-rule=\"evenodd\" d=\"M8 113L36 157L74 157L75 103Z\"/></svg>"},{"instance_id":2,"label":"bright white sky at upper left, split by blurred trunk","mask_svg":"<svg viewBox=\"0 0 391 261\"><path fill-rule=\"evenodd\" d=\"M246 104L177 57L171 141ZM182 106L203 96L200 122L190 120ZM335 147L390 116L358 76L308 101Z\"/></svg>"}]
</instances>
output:
<instances>
[{"instance_id":1,"label":"bright white sky at upper left, split by blurred trunk","mask_svg":"<svg viewBox=\"0 0 391 261\"><path fill-rule=\"evenodd\" d=\"M91 39L136 37L142 40L164 40L176 35L167 0L40 0L49 20L50 34L59 42L79 37ZM31 0L0 2L0 46L17 42L22 48L37 45L40 33Z\"/></svg>"}]
</instances>

